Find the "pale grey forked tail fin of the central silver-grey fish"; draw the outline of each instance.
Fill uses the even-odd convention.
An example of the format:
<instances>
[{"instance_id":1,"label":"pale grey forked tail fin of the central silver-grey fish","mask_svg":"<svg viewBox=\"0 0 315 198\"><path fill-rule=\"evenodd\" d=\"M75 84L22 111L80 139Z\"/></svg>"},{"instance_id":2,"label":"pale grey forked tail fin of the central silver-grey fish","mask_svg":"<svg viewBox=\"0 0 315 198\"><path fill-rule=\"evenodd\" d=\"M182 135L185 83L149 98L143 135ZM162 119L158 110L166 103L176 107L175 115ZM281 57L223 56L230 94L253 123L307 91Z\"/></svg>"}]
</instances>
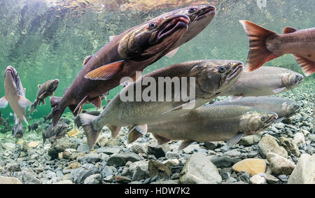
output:
<instances>
[{"instance_id":1,"label":"pale grey forked tail fin of the central silver-grey fish","mask_svg":"<svg viewBox=\"0 0 315 198\"><path fill-rule=\"evenodd\" d=\"M97 138L99 137L99 133L101 132L101 130L98 131L93 128L92 121L97 116L90 115L87 113L81 113L80 115L78 115L78 117L85 131L87 146L89 146L89 148L92 149L97 141Z\"/></svg>"}]
</instances>

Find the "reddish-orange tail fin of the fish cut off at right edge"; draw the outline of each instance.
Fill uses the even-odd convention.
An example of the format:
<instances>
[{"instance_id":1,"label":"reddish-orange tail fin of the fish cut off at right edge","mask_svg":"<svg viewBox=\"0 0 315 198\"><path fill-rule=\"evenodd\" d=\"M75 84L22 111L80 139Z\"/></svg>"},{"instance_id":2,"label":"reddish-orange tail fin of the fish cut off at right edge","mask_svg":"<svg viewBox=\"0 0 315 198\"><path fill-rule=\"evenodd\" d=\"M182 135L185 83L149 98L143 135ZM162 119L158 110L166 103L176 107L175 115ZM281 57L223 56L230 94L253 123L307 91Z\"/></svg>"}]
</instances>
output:
<instances>
[{"instance_id":1,"label":"reddish-orange tail fin of the fish cut off at right edge","mask_svg":"<svg viewBox=\"0 0 315 198\"><path fill-rule=\"evenodd\" d=\"M268 50L266 39L269 36L278 36L279 34L247 20L240 20L239 22L243 25L249 38L246 71L254 71L266 62L278 57Z\"/></svg>"}]
</instances>

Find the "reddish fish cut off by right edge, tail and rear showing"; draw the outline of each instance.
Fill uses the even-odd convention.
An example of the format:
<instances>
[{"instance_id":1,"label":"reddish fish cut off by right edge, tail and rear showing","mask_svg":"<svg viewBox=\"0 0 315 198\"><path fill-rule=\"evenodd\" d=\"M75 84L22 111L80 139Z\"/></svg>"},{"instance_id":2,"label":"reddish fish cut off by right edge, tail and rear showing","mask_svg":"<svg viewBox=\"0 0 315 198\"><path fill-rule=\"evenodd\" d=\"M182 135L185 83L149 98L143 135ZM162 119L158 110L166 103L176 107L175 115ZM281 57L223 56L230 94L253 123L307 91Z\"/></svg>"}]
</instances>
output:
<instances>
[{"instance_id":1,"label":"reddish fish cut off by right edge, tail and rear showing","mask_svg":"<svg viewBox=\"0 0 315 198\"><path fill-rule=\"evenodd\" d=\"M272 59L285 54L293 54L305 76L315 72L315 28L297 30L285 27L283 34L241 20L249 38L247 71L254 71Z\"/></svg>"}]
</instances>

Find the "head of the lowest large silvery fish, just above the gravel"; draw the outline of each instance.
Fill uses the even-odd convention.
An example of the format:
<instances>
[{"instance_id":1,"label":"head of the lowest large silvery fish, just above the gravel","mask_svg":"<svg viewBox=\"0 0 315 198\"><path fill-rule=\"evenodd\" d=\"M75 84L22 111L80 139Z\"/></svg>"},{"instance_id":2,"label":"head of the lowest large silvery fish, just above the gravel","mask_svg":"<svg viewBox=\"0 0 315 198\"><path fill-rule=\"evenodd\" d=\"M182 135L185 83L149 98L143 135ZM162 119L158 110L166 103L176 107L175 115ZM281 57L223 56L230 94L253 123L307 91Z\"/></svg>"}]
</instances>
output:
<instances>
[{"instance_id":1,"label":"head of the lowest large silvery fish, just above the gravel","mask_svg":"<svg viewBox=\"0 0 315 198\"><path fill-rule=\"evenodd\" d=\"M257 134L267 129L277 118L278 115L274 112L251 108L241 116L239 128L245 135Z\"/></svg>"}]
</instances>

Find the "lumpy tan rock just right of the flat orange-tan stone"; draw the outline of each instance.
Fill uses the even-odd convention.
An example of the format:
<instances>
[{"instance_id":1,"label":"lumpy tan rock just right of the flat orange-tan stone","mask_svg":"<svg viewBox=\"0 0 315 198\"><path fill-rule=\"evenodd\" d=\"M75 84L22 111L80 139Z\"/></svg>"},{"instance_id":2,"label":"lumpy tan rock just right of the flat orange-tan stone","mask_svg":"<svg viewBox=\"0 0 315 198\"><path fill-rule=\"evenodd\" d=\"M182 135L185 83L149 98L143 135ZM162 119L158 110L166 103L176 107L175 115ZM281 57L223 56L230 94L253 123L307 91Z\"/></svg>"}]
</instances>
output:
<instances>
[{"instance_id":1,"label":"lumpy tan rock just right of the flat orange-tan stone","mask_svg":"<svg viewBox=\"0 0 315 198\"><path fill-rule=\"evenodd\" d=\"M268 153L267 160L270 163L270 168L272 172L277 175L289 175L295 168L294 162L277 155L276 153Z\"/></svg>"}]
</instances>

